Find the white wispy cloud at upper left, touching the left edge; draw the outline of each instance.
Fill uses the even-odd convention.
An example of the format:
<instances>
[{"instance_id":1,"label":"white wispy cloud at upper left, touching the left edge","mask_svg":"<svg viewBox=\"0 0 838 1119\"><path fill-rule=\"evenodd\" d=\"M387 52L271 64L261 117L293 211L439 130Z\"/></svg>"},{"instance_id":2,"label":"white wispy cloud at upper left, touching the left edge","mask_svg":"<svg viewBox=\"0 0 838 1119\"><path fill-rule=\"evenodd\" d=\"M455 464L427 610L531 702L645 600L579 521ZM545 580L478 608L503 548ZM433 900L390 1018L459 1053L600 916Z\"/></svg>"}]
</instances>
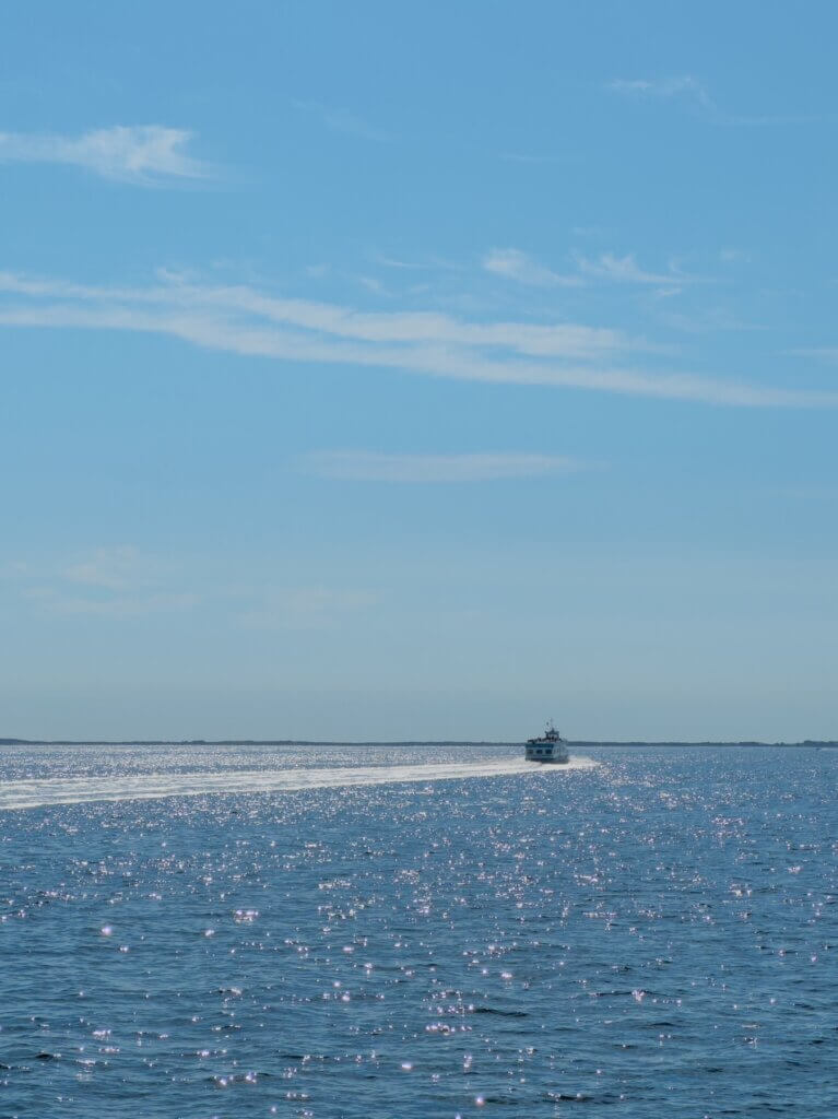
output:
<instances>
[{"instance_id":1,"label":"white wispy cloud at upper left, touching the left edge","mask_svg":"<svg viewBox=\"0 0 838 1119\"><path fill-rule=\"evenodd\" d=\"M114 125L78 137L0 132L0 161L74 164L141 186L208 178L209 166L186 151L191 135L160 124Z\"/></svg>"}]
</instances>

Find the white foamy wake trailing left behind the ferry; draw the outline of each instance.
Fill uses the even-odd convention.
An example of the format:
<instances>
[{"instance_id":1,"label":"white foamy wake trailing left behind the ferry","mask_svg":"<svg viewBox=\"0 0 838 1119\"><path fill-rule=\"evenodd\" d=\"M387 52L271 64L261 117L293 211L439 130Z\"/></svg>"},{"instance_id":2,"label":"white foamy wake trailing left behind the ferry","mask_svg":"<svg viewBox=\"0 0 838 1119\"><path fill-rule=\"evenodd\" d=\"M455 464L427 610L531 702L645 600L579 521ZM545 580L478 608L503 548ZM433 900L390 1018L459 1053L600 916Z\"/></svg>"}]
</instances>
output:
<instances>
[{"instance_id":1,"label":"white foamy wake trailing left behind the ferry","mask_svg":"<svg viewBox=\"0 0 838 1119\"><path fill-rule=\"evenodd\" d=\"M352 786L454 778L546 777L591 769L590 758L572 758L566 765L538 765L522 759L487 762L445 762L422 765L352 765L339 769L241 770L220 773L143 773L136 777L45 778L0 782L0 811L82 805L97 800L158 800L229 792L299 792L303 789L345 789Z\"/></svg>"}]
</instances>

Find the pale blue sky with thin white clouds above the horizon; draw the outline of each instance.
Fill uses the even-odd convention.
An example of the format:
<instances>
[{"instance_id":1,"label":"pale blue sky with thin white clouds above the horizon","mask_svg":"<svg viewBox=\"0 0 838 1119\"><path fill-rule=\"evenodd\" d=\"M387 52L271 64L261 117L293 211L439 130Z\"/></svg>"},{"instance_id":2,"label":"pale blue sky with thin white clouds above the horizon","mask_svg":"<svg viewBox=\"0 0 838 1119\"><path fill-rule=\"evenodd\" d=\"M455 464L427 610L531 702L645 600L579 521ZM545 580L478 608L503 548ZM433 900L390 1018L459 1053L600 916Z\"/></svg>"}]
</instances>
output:
<instances>
[{"instance_id":1,"label":"pale blue sky with thin white clouds above the horizon","mask_svg":"<svg viewBox=\"0 0 838 1119\"><path fill-rule=\"evenodd\" d=\"M838 10L29 0L0 736L838 737Z\"/></svg>"}]
</instances>

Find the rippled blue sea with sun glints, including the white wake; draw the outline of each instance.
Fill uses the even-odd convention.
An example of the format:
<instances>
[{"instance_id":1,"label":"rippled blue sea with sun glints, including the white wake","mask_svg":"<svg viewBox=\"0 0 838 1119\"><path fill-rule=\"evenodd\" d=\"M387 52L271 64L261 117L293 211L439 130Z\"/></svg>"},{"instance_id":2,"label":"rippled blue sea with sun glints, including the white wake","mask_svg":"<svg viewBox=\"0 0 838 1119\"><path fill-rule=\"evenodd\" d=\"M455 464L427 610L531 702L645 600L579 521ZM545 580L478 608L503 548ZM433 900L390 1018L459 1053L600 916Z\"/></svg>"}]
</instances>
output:
<instances>
[{"instance_id":1,"label":"rippled blue sea with sun glints, including the white wake","mask_svg":"<svg viewBox=\"0 0 838 1119\"><path fill-rule=\"evenodd\" d=\"M9 746L0 1116L838 1116L838 751Z\"/></svg>"}]
</instances>

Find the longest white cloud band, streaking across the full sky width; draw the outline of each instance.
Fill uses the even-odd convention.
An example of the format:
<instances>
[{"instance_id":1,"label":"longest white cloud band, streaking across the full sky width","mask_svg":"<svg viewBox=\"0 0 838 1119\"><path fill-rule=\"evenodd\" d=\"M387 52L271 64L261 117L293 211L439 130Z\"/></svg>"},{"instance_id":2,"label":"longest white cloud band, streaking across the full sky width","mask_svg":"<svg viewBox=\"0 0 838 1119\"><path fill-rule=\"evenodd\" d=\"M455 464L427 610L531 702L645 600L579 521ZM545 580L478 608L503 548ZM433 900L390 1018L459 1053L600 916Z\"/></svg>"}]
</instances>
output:
<instances>
[{"instance_id":1,"label":"longest white cloud band, streaking across the full sky width","mask_svg":"<svg viewBox=\"0 0 838 1119\"><path fill-rule=\"evenodd\" d=\"M838 393L625 365L656 347L578 323L465 321L437 312L359 312L282 299L244 285L169 279L97 288L0 273L0 325L168 335L209 349L296 364L405 370L495 384L568 388L745 406L834 406Z\"/></svg>"}]
</instances>

